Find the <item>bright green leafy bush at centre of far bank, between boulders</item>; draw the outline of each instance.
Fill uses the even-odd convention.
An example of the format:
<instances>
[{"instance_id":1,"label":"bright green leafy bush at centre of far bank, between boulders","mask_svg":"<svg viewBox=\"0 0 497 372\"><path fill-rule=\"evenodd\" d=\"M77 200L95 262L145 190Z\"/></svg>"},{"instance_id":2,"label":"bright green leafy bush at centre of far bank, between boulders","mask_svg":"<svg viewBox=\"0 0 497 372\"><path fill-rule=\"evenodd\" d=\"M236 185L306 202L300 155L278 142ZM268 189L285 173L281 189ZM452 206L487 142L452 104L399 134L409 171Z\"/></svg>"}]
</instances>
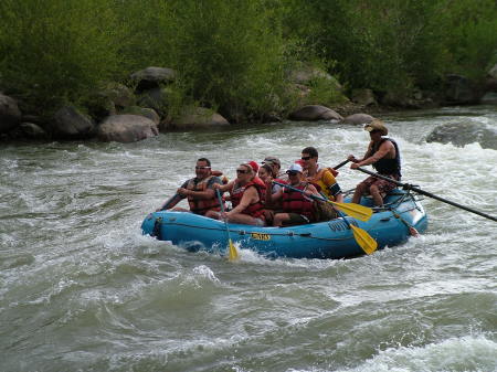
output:
<instances>
[{"instance_id":1,"label":"bright green leafy bush at centre of far bank, between boulders","mask_svg":"<svg viewBox=\"0 0 497 372\"><path fill-rule=\"evenodd\" d=\"M171 53L191 98L221 113L260 115L283 92L283 45L265 1L172 1Z\"/></svg>"}]
</instances>

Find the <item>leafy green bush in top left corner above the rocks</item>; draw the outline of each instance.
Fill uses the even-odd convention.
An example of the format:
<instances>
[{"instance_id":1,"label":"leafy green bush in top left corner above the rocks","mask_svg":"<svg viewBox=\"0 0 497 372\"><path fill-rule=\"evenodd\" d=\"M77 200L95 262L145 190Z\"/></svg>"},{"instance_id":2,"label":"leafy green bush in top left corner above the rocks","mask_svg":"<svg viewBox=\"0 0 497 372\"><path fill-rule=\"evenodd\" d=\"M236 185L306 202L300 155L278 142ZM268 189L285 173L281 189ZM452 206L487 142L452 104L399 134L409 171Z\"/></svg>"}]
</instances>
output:
<instances>
[{"instance_id":1,"label":"leafy green bush in top left corner above the rocks","mask_svg":"<svg viewBox=\"0 0 497 372\"><path fill-rule=\"evenodd\" d=\"M31 111L77 103L116 75L116 25L99 0L2 0L3 87Z\"/></svg>"}]
</instances>

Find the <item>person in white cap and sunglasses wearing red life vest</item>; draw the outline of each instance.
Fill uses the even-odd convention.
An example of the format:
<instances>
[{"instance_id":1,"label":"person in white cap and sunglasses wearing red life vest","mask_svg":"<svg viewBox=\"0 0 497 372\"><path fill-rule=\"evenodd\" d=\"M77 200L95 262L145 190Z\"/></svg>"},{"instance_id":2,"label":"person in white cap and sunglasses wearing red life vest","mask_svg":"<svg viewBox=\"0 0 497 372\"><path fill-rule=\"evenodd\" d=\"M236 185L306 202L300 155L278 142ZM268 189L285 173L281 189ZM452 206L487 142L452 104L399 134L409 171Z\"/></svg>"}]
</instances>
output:
<instances>
[{"instance_id":1,"label":"person in white cap and sunglasses wearing red life vest","mask_svg":"<svg viewBox=\"0 0 497 372\"><path fill-rule=\"evenodd\" d=\"M303 192L283 188L271 195L271 202L281 200L283 206L283 212L274 215L273 226L281 227L314 222L314 202L309 196L320 196L317 189L311 183L304 181L300 164L292 164L286 173L288 174L289 185Z\"/></svg>"}]
</instances>

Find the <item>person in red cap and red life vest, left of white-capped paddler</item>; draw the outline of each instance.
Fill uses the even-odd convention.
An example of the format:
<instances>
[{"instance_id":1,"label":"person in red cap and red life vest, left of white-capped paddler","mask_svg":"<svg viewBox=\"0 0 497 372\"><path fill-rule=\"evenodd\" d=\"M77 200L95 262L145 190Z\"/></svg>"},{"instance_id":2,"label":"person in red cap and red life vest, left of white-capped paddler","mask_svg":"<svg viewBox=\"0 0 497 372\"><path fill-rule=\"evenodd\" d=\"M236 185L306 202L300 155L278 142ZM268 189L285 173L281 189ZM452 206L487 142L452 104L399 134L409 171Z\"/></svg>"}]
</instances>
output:
<instances>
[{"instance_id":1,"label":"person in red cap and red life vest, left of white-capped paddler","mask_svg":"<svg viewBox=\"0 0 497 372\"><path fill-rule=\"evenodd\" d=\"M228 184L214 184L221 192L229 191L233 209L229 212L208 213L207 216L215 220L226 219L231 223L264 226L264 194L266 185L256 176L250 163L240 164L236 169L236 179Z\"/></svg>"}]
</instances>

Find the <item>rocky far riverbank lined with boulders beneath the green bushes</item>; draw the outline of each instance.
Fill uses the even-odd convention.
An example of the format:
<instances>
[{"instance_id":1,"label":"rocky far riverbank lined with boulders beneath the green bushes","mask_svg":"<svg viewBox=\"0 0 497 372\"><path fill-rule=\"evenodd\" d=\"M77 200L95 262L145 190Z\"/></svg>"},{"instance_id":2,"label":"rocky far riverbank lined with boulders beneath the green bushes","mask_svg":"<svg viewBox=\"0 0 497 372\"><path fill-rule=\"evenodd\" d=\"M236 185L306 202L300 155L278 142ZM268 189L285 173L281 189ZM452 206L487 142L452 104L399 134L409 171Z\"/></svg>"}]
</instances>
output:
<instances>
[{"instance_id":1,"label":"rocky far riverbank lined with boulders beneath the green bushes","mask_svg":"<svg viewBox=\"0 0 497 372\"><path fill-rule=\"evenodd\" d=\"M288 87L295 92L294 108L250 117L235 109L218 113L210 107L171 106L177 72L167 67L147 67L130 75L129 84L109 83L96 92L83 107L66 105L50 118L22 111L22 102L0 93L0 138L2 140L99 140L133 142L159 132L225 127L240 123L274 123L290 120L327 120L360 125L374 115L392 109L419 109L440 105L497 103L497 65L488 72L483 86L464 76L450 75L440 93L412 91L409 95L372 89L355 89L343 94L340 83L327 73L306 67L289 74ZM309 99L316 79L334 89L331 107ZM275 97L277 99L277 97ZM434 137L436 138L436 136Z\"/></svg>"}]
</instances>

